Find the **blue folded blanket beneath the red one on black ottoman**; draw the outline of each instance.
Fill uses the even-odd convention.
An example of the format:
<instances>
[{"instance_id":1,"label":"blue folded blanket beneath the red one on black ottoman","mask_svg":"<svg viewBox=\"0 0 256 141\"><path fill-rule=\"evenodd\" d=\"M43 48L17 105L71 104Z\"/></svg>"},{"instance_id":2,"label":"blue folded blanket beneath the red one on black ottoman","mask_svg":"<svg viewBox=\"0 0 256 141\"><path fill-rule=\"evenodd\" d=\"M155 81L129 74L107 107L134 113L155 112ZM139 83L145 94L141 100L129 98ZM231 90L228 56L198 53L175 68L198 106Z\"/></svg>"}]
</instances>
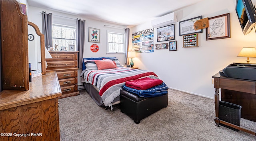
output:
<instances>
[{"instance_id":1,"label":"blue folded blanket beneath the red one on black ottoman","mask_svg":"<svg viewBox=\"0 0 256 141\"><path fill-rule=\"evenodd\" d=\"M162 96L162 95L168 93L168 86L166 86L166 84L164 82L158 86L154 86L147 90L137 90L137 89L125 86L125 85L123 85L122 88L124 90L126 90L127 92L130 92L133 94L138 94L138 96L144 97L144 98Z\"/></svg>"}]
</instances>

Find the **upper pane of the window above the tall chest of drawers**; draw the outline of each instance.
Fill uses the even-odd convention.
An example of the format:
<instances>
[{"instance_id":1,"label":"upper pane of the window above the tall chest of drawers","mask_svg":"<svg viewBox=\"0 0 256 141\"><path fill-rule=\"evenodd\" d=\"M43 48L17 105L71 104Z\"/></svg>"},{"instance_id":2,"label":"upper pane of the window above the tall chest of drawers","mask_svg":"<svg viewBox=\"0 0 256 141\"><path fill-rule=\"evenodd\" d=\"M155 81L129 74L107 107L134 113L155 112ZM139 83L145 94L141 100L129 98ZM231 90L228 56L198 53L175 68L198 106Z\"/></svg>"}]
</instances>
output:
<instances>
[{"instance_id":1,"label":"upper pane of the window above the tall chest of drawers","mask_svg":"<svg viewBox=\"0 0 256 141\"><path fill-rule=\"evenodd\" d=\"M52 26L52 37L64 39L76 39L76 29L63 26Z\"/></svg>"}]
</instances>

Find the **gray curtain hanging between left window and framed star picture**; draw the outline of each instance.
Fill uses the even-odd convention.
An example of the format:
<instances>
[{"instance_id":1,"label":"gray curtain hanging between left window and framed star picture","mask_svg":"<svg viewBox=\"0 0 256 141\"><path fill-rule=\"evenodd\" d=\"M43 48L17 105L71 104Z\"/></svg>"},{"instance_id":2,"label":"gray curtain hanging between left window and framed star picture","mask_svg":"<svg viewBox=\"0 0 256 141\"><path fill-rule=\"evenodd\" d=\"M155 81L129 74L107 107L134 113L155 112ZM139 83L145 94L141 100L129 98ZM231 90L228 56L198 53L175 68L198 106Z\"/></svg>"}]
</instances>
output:
<instances>
[{"instance_id":1,"label":"gray curtain hanging between left window and framed star picture","mask_svg":"<svg viewBox=\"0 0 256 141\"><path fill-rule=\"evenodd\" d=\"M78 53L78 68L82 69L82 60L84 55L84 39L85 39L85 20L76 19L76 46Z\"/></svg>"}]
</instances>

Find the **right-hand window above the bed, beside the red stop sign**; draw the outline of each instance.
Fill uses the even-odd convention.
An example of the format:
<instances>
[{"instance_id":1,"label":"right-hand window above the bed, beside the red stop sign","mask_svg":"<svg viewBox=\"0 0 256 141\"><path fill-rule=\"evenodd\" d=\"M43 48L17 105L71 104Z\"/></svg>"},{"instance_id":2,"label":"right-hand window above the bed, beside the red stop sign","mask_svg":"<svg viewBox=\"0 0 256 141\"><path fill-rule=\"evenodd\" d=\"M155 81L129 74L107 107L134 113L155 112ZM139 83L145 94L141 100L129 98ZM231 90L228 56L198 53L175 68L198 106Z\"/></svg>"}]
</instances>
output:
<instances>
[{"instance_id":1,"label":"right-hand window above the bed, beside the red stop sign","mask_svg":"<svg viewBox=\"0 0 256 141\"><path fill-rule=\"evenodd\" d=\"M108 31L107 53L125 54L124 34Z\"/></svg>"}]
</instances>

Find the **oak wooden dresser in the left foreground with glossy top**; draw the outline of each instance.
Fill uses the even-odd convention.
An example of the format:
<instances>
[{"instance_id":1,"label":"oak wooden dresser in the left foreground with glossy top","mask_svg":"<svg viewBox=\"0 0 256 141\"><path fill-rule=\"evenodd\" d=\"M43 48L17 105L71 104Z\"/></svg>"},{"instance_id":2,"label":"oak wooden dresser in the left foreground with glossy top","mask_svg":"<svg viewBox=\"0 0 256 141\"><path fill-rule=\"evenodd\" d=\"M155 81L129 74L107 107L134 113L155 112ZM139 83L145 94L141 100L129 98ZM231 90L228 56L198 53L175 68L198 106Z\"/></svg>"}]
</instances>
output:
<instances>
[{"instance_id":1,"label":"oak wooden dresser in the left foreground with glossy top","mask_svg":"<svg viewBox=\"0 0 256 141\"><path fill-rule=\"evenodd\" d=\"M32 78L29 88L0 92L0 141L60 141L56 72Z\"/></svg>"}]
</instances>

